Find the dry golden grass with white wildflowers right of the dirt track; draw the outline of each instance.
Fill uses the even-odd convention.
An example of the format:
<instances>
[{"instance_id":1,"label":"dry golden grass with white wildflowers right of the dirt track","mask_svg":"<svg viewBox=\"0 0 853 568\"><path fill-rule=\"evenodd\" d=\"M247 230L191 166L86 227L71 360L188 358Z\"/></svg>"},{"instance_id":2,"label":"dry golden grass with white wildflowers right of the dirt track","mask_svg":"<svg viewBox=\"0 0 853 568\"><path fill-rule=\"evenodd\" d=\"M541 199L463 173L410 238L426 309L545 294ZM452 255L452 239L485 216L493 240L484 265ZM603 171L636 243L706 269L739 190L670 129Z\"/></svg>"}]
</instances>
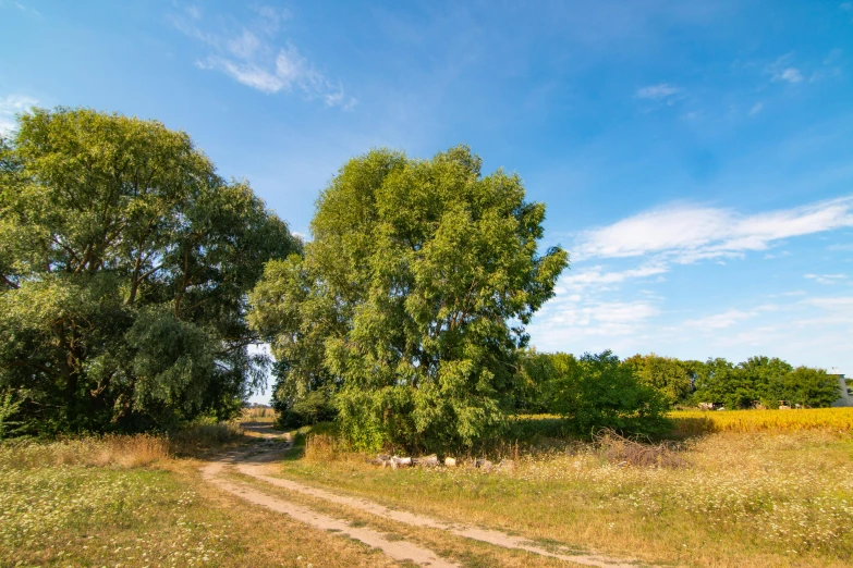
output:
<instances>
[{"instance_id":1,"label":"dry golden grass with white wildflowers right of the dirt track","mask_svg":"<svg viewBox=\"0 0 853 568\"><path fill-rule=\"evenodd\" d=\"M845 415L824 412L832 418L815 423L805 412L803 423L812 428L777 430L769 424L792 422L770 416L755 415L763 425L745 432L657 446L663 459L650 462L667 467L632 466L613 443L565 442L523 452L514 467L490 472L393 471L308 435L303 457L297 450L280 474L450 521L649 563L850 566L853 435L836 422Z\"/></svg>"}]
</instances>

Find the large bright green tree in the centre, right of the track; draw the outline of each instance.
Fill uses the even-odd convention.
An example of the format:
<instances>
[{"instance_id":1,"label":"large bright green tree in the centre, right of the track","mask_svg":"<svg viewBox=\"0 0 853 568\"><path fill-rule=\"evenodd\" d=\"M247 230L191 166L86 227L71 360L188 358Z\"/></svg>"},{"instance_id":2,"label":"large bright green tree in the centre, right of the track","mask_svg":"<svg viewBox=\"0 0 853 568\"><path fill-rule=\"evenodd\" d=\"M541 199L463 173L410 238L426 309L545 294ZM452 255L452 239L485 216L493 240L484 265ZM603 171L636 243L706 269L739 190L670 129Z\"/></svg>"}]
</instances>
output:
<instances>
[{"instance_id":1,"label":"large bright green tree in the centre, right of the track","mask_svg":"<svg viewBox=\"0 0 853 568\"><path fill-rule=\"evenodd\" d=\"M333 392L361 447L470 445L499 425L524 325L568 263L537 254L545 206L524 197L466 147L348 162L304 258L270 262L252 296L277 396Z\"/></svg>"}]
</instances>

